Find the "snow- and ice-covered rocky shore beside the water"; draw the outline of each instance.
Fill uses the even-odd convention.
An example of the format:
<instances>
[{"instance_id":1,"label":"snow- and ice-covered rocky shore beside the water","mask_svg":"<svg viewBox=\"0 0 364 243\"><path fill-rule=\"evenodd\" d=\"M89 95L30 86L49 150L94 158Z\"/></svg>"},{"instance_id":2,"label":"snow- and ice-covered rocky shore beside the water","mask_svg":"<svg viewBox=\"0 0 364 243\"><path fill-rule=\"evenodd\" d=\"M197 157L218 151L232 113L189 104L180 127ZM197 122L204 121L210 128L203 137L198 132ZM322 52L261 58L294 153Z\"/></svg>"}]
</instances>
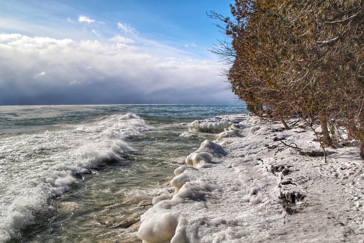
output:
<instances>
[{"instance_id":1,"label":"snow- and ice-covered rocky shore beside the water","mask_svg":"<svg viewBox=\"0 0 364 243\"><path fill-rule=\"evenodd\" d=\"M310 130L237 117L175 170L175 193L141 216L143 242L364 242L357 146L337 145L324 163L274 141L319 150Z\"/></svg>"}]
</instances>

